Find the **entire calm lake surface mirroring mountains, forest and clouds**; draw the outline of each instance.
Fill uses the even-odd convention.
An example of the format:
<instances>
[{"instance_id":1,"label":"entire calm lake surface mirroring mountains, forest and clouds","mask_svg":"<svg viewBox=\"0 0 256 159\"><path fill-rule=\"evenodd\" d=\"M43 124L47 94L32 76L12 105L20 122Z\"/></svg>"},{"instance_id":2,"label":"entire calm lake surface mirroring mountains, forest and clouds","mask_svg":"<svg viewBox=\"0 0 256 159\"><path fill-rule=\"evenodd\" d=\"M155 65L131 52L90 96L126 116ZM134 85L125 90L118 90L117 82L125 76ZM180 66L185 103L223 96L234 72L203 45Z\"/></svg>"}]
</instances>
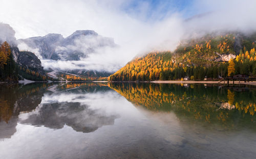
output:
<instances>
[{"instance_id":1,"label":"entire calm lake surface mirroring mountains, forest and clouds","mask_svg":"<svg viewBox=\"0 0 256 159\"><path fill-rule=\"evenodd\" d=\"M255 158L256 90L0 85L0 158Z\"/></svg>"}]
</instances>

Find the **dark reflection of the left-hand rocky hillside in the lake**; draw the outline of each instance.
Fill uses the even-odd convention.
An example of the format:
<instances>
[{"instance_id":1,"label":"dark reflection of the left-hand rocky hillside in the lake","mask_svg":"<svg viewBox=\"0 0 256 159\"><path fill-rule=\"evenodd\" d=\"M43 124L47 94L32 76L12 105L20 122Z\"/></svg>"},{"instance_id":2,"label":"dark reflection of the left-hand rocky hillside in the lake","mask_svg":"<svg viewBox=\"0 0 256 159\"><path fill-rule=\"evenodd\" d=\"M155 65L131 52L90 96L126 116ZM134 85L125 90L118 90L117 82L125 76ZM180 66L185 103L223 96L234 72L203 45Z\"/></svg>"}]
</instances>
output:
<instances>
[{"instance_id":1,"label":"dark reflection of the left-hand rocky hillside in the lake","mask_svg":"<svg viewBox=\"0 0 256 159\"><path fill-rule=\"evenodd\" d=\"M11 138L16 132L18 115L34 110L50 84L1 85L0 139Z\"/></svg>"}]
</instances>

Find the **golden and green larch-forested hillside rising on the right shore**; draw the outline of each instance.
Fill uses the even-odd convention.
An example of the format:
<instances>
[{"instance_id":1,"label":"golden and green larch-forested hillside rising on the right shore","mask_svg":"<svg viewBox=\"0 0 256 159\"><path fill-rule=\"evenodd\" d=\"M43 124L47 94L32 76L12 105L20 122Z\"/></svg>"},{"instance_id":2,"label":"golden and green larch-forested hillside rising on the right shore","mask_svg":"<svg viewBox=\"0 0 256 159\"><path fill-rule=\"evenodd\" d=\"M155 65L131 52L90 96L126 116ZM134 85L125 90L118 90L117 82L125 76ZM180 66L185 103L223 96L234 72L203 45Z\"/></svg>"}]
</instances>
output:
<instances>
[{"instance_id":1,"label":"golden and green larch-forested hillside rising on the right shore","mask_svg":"<svg viewBox=\"0 0 256 159\"><path fill-rule=\"evenodd\" d=\"M203 80L256 75L256 34L212 34L184 40L174 52L154 51L109 76L109 81Z\"/></svg>"}]
</instances>

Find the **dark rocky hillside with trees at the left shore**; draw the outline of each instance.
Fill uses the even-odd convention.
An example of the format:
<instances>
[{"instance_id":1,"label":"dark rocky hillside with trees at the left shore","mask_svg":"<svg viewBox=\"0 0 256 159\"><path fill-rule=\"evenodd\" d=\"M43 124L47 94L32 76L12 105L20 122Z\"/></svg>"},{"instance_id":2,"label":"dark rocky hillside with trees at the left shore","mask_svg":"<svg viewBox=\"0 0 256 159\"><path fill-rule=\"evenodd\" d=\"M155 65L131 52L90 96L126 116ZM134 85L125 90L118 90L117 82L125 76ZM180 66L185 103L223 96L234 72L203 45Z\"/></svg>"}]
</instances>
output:
<instances>
[{"instance_id":1,"label":"dark rocky hillside with trees at the left shore","mask_svg":"<svg viewBox=\"0 0 256 159\"><path fill-rule=\"evenodd\" d=\"M41 61L29 51L19 51L4 42L0 47L0 81L18 82L18 80L47 81L53 80L47 76L41 66Z\"/></svg>"}]
</instances>

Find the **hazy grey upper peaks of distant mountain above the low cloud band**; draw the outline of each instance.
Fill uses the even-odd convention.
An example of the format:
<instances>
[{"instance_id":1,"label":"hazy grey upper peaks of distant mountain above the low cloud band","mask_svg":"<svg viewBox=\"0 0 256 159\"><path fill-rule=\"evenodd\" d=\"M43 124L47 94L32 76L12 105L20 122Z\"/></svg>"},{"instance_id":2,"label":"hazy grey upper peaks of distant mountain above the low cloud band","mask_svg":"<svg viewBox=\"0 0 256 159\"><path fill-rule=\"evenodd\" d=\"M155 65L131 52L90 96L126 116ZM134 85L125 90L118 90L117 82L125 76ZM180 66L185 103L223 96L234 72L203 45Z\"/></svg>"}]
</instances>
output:
<instances>
[{"instance_id":1,"label":"hazy grey upper peaks of distant mountain above the low cloud band","mask_svg":"<svg viewBox=\"0 0 256 159\"><path fill-rule=\"evenodd\" d=\"M114 47L112 38L102 37L94 31L75 31L63 38L60 34L47 34L44 37L18 39L18 44L26 44L33 50L38 50L42 59L51 60L81 60L88 54L102 47Z\"/></svg>"}]
</instances>

